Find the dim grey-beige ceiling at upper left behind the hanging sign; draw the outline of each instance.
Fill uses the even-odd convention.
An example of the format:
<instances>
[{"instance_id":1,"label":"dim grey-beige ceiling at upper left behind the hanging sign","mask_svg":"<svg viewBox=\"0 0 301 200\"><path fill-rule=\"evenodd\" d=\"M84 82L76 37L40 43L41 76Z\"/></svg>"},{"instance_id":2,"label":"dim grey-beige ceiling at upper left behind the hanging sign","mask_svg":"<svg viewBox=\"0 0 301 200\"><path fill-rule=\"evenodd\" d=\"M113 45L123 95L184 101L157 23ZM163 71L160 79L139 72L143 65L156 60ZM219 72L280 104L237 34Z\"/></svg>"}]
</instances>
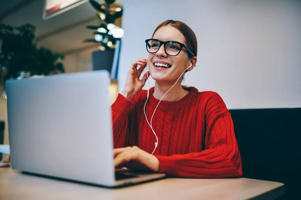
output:
<instances>
[{"instance_id":1,"label":"dim grey-beige ceiling at upper left behind the hanging sign","mask_svg":"<svg viewBox=\"0 0 301 200\"><path fill-rule=\"evenodd\" d=\"M98 0L100 4L104 0ZM123 0L116 0L117 6L123 5ZM20 26L26 23L36 26L38 46L49 48L55 52L68 55L84 49L95 48L95 43L83 43L87 38L93 38L93 30L87 25L98 25L96 11L86 2L48 20L42 19L44 1L42 0L0 0L0 23ZM121 19L115 23L121 26Z\"/></svg>"}]
</instances>

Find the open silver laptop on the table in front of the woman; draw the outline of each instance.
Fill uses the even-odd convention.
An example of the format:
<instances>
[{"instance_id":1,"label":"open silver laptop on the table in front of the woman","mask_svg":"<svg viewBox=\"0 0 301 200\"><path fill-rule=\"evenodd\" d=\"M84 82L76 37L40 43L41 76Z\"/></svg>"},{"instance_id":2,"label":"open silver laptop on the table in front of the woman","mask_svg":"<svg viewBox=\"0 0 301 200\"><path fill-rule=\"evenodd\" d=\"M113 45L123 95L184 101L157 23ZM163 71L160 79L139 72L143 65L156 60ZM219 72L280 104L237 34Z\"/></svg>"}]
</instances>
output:
<instances>
[{"instance_id":1,"label":"open silver laptop on the table in front of the woman","mask_svg":"<svg viewBox=\"0 0 301 200\"><path fill-rule=\"evenodd\" d=\"M107 71L9 80L11 166L107 187L162 178L113 165Z\"/></svg>"}]
</instances>

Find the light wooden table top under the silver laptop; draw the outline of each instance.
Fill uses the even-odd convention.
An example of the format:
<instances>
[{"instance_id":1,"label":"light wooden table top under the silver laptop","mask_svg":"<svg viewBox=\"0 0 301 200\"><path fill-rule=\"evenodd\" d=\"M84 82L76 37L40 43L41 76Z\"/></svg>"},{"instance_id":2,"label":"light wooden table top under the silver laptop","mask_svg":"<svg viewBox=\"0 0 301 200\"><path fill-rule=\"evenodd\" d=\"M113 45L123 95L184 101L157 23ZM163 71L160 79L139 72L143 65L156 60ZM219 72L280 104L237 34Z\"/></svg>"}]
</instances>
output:
<instances>
[{"instance_id":1,"label":"light wooden table top under the silver laptop","mask_svg":"<svg viewBox=\"0 0 301 200\"><path fill-rule=\"evenodd\" d=\"M27 175L0 168L0 199L273 199L284 194L279 182L248 178L166 178L108 189Z\"/></svg>"}]
</instances>

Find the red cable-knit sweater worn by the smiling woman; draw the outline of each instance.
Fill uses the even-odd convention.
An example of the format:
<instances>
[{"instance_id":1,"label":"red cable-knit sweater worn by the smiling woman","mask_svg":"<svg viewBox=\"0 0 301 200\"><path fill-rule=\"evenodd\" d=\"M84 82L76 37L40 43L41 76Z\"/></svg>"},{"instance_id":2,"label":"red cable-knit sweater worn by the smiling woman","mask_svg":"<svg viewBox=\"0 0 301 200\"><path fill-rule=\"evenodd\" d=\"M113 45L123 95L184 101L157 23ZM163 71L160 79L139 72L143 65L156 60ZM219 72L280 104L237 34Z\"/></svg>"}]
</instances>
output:
<instances>
[{"instance_id":1,"label":"red cable-knit sweater worn by the smiling woman","mask_svg":"<svg viewBox=\"0 0 301 200\"><path fill-rule=\"evenodd\" d=\"M148 121L159 100L149 90L145 112ZM118 94L112 104L114 147L136 145L152 153L156 137L143 108L147 91L129 101ZM160 172L178 177L221 178L242 176L242 165L233 122L222 98L194 87L179 101L161 101L153 118L159 138L154 155Z\"/></svg>"}]
</instances>

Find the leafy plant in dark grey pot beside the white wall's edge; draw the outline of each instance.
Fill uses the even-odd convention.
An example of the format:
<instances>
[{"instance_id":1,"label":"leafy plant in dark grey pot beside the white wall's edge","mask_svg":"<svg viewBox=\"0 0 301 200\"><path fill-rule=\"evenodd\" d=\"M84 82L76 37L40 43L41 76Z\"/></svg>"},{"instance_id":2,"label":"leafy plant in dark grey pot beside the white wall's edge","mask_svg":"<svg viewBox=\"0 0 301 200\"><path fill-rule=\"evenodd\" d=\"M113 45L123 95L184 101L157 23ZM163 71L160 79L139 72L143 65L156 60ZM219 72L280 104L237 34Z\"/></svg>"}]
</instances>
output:
<instances>
[{"instance_id":1,"label":"leafy plant in dark grey pot beside the white wall's edge","mask_svg":"<svg viewBox=\"0 0 301 200\"><path fill-rule=\"evenodd\" d=\"M94 30L94 38L86 39L83 42L99 44L99 51L92 53L93 70L107 70L111 74L111 78L116 79L119 63L117 58L119 57L123 29L115 26L114 23L116 19L122 16L123 10L119 6L112 6L115 0L105 0L103 5L94 0L89 2L96 10L100 24L86 27Z\"/></svg>"}]
</instances>

